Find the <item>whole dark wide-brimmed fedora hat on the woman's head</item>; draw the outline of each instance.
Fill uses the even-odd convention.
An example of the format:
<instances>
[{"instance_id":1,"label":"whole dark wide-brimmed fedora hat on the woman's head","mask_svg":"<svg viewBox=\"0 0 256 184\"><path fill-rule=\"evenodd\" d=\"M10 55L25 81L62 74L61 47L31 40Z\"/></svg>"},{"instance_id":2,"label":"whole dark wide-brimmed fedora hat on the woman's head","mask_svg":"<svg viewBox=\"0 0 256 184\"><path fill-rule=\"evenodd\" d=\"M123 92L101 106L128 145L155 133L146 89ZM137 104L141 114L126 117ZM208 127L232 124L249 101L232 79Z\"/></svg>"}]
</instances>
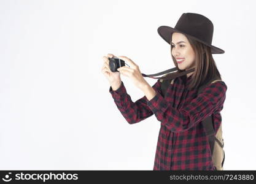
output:
<instances>
[{"instance_id":1,"label":"whole dark wide-brimmed fedora hat on the woman's head","mask_svg":"<svg viewBox=\"0 0 256 184\"><path fill-rule=\"evenodd\" d=\"M160 26L157 32L168 44L170 44L172 34L177 32L211 47L212 54L225 53L224 50L212 45L214 32L212 21L198 13L183 13L174 28Z\"/></svg>"}]
</instances>

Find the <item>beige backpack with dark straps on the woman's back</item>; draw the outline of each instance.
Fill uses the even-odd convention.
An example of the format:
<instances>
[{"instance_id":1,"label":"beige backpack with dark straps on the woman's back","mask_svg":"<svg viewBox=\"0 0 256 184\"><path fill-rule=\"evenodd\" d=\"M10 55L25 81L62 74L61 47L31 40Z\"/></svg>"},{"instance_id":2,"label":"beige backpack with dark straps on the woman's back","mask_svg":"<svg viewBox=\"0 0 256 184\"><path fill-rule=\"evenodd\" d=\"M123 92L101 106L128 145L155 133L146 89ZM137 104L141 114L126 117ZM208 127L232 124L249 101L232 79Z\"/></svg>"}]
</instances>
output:
<instances>
[{"instance_id":1,"label":"beige backpack with dark straps on the woman's back","mask_svg":"<svg viewBox=\"0 0 256 184\"><path fill-rule=\"evenodd\" d=\"M166 74L168 75L168 74ZM166 90L169 86L169 84L173 85L175 79L167 79L167 80L163 80L161 79L161 91L163 93L163 96L165 96L166 94ZM217 81L222 81L222 80L211 80L210 82L206 83L203 86L200 86L200 88L198 89L198 94L201 93L201 91L203 91L203 88L208 85L209 83L214 83ZM214 132L214 122L212 120L212 115L210 115L209 117L205 118L203 121L201 121L204 130L206 132L206 136L208 137L208 142L211 148L211 154L212 154L212 163L214 164L214 167L217 171L222 171L223 170L223 164L224 164L224 160L225 160L225 152L223 150L224 147L224 142L223 142L223 138L222 138L222 123L220 123L220 127L217 131L217 133L215 134ZM215 134L215 136L214 136Z\"/></svg>"}]
</instances>

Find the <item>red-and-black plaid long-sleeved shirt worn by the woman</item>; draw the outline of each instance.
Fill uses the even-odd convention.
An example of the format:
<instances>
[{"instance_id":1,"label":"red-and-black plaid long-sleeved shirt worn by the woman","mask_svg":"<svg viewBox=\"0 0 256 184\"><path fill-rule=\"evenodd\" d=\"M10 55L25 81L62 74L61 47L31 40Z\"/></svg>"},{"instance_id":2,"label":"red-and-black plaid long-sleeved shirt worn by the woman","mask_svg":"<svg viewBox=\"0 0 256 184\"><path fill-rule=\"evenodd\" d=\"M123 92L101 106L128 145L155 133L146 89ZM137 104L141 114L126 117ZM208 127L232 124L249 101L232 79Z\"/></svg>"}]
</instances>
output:
<instances>
[{"instance_id":1,"label":"red-and-black plaid long-sleeved shirt worn by the woman","mask_svg":"<svg viewBox=\"0 0 256 184\"><path fill-rule=\"evenodd\" d=\"M148 101L144 96L131 101L123 85L109 92L128 123L138 123L155 115L161 122L153 170L215 170L211 149L201 121L212 115L215 133L220 126L227 85L211 83L197 96L197 90L187 90L190 77L178 77L170 84L166 96L158 80L152 88L157 95Z\"/></svg>"}]
</instances>

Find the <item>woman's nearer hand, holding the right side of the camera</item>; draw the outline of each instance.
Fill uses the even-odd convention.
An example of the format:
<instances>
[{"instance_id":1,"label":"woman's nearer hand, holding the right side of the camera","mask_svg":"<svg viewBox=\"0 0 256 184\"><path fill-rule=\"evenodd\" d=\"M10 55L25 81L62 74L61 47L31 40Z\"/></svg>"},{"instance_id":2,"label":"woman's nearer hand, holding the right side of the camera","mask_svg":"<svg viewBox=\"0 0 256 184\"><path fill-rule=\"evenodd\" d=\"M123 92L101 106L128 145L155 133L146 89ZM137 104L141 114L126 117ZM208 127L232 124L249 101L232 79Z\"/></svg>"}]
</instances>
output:
<instances>
[{"instance_id":1,"label":"woman's nearer hand, holding the right side of the camera","mask_svg":"<svg viewBox=\"0 0 256 184\"><path fill-rule=\"evenodd\" d=\"M139 66L135 64L130 58L127 58L126 56L117 56L120 59L123 59L125 63L128 63L130 67L122 66L117 69L120 74L125 75L126 77L129 77L134 85L138 87L141 90L144 90L145 87L149 85L147 81L145 81L144 77L141 74L141 71L139 71Z\"/></svg>"}]
</instances>

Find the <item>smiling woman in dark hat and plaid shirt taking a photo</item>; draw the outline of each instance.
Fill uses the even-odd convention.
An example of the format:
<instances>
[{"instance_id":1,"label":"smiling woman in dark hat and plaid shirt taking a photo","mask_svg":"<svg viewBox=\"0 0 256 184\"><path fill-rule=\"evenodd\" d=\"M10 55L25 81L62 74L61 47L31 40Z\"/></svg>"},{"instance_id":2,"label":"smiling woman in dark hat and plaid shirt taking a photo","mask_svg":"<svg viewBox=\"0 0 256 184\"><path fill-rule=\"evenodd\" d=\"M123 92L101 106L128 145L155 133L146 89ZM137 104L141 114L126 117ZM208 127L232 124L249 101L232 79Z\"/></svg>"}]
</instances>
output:
<instances>
[{"instance_id":1,"label":"smiling woman in dark hat and plaid shirt taking a photo","mask_svg":"<svg viewBox=\"0 0 256 184\"><path fill-rule=\"evenodd\" d=\"M197 95L198 88L212 79L220 79L212 53L224 53L211 45L212 22L197 13L183 13L175 28L160 26L158 33L171 45L171 55L179 72L195 69L170 83L166 94L161 80L150 86L142 77L139 66L125 56L118 56L130 67L111 72L103 57L103 74L111 85L109 92L128 123L138 123L155 115L161 122L153 170L215 170L211 149L201 121L212 115L214 131L220 127L227 85L210 83ZM131 101L120 74L129 77L145 96ZM172 74L173 75L173 74Z\"/></svg>"}]
</instances>

